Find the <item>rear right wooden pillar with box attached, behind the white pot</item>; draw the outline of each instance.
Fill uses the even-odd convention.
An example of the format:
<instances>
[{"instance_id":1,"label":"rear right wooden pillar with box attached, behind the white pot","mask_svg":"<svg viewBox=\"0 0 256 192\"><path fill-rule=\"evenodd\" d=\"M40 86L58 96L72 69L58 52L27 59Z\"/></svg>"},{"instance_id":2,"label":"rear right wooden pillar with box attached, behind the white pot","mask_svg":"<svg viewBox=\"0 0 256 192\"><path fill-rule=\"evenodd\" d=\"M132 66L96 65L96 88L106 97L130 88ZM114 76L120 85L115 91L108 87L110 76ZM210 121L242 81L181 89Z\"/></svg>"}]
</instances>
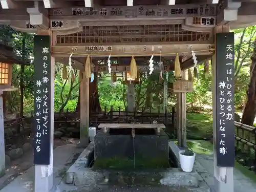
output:
<instances>
[{"instance_id":1,"label":"rear right wooden pillar with box attached, behind the white pot","mask_svg":"<svg viewBox=\"0 0 256 192\"><path fill-rule=\"evenodd\" d=\"M183 71L183 79L186 79L185 71ZM177 93L177 134L179 147L186 147L186 129L186 93Z\"/></svg>"}]
</instances>

